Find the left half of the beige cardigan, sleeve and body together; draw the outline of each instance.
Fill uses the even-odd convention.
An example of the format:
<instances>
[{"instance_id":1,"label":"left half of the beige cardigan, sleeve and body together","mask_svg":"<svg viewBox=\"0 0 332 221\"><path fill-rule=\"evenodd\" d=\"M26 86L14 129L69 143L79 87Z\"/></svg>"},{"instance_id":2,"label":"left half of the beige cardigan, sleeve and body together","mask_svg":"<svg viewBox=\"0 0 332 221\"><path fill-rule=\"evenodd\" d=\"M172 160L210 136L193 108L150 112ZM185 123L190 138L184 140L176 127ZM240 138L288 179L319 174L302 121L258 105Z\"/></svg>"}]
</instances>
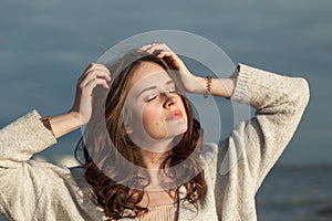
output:
<instances>
[{"instance_id":1,"label":"left half of the beige cardigan, sleeve and body together","mask_svg":"<svg viewBox=\"0 0 332 221\"><path fill-rule=\"evenodd\" d=\"M30 159L55 141L35 110L0 130L0 213L8 220L102 220L83 170Z\"/></svg>"}]
</instances>

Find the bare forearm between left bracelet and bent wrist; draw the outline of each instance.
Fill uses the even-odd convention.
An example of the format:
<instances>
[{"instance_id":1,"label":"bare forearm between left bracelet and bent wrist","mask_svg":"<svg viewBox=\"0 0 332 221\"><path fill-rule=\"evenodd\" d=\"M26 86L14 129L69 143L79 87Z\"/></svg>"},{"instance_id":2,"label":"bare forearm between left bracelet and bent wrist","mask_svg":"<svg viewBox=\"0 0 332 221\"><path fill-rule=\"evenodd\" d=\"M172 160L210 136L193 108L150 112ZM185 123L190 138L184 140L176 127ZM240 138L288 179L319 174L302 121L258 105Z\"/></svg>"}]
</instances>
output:
<instances>
[{"instance_id":1,"label":"bare forearm between left bracelet and bent wrist","mask_svg":"<svg viewBox=\"0 0 332 221\"><path fill-rule=\"evenodd\" d=\"M55 138L69 134L81 126L80 115L75 112L69 112L50 119L52 131Z\"/></svg>"}]
</instances>

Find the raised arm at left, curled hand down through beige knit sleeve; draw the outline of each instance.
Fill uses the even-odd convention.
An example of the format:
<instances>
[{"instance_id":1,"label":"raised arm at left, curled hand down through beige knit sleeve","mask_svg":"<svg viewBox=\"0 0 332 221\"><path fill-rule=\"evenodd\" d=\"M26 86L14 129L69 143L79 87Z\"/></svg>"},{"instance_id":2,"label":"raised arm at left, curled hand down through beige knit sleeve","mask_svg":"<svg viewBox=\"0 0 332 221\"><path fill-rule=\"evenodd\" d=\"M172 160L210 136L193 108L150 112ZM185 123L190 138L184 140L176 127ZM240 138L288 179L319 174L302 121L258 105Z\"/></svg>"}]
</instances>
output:
<instances>
[{"instance_id":1,"label":"raised arm at left, curled hand down through beige knit sleeve","mask_svg":"<svg viewBox=\"0 0 332 221\"><path fill-rule=\"evenodd\" d=\"M75 102L72 108L62 115L50 119L51 130L41 123L41 116L31 112L0 130L0 167L15 167L29 160L33 154L42 151L59 138L91 117L93 90L97 85L108 88L111 81L108 70L102 64L90 64L77 81Z\"/></svg>"}]
</instances>

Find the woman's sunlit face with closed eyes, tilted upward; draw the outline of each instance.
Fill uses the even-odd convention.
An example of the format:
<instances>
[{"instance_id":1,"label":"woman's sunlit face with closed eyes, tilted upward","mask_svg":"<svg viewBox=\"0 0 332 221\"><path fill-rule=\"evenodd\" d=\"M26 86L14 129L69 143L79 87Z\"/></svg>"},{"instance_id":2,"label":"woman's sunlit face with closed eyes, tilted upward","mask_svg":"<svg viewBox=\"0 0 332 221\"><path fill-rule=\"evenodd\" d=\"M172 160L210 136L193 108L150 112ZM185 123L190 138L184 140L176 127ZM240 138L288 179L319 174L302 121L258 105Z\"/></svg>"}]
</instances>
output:
<instances>
[{"instance_id":1,"label":"woman's sunlit face with closed eyes, tilted upward","mask_svg":"<svg viewBox=\"0 0 332 221\"><path fill-rule=\"evenodd\" d=\"M134 70L124 119L127 134L138 146L173 139L187 130L184 103L160 65L143 62Z\"/></svg>"}]
</instances>

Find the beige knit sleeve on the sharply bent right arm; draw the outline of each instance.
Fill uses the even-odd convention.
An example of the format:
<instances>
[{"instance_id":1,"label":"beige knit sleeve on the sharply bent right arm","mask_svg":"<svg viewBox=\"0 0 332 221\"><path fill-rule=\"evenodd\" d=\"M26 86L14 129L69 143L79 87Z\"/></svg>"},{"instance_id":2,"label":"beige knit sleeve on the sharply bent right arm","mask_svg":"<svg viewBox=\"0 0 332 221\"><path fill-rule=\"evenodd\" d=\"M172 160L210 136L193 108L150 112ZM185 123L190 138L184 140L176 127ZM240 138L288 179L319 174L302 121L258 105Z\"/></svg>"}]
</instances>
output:
<instances>
[{"instance_id":1,"label":"beige knit sleeve on the sharply bent right arm","mask_svg":"<svg viewBox=\"0 0 332 221\"><path fill-rule=\"evenodd\" d=\"M301 77L238 67L230 98L255 107L256 115L230 134L218 157L219 172L231 172L229 179L256 192L293 136L309 102L309 86Z\"/></svg>"}]
</instances>

